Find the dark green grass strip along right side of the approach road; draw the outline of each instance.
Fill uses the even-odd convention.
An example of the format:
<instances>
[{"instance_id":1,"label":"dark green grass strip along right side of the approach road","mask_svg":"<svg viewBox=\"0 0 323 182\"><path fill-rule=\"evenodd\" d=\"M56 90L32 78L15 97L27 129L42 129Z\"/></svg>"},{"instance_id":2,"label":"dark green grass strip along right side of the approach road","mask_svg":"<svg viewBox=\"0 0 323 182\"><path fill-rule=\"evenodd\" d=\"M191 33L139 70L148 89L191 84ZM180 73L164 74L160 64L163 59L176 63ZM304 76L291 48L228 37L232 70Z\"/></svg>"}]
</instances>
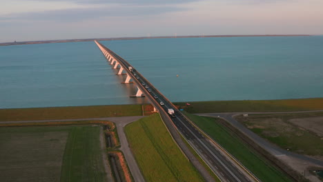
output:
<instances>
[{"instance_id":1,"label":"dark green grass strip along right side of the approach road","mask_svg":"<svg viewBox=\"0 0 323 182\"><path fill-rule=\"evenodd\" d=\"M219 119L185 114L261 181L291 181L288 176L268 163L260 154L248 148L246 143L242 142L236 134L220 124Z\"/></svg>"}]
</instances>

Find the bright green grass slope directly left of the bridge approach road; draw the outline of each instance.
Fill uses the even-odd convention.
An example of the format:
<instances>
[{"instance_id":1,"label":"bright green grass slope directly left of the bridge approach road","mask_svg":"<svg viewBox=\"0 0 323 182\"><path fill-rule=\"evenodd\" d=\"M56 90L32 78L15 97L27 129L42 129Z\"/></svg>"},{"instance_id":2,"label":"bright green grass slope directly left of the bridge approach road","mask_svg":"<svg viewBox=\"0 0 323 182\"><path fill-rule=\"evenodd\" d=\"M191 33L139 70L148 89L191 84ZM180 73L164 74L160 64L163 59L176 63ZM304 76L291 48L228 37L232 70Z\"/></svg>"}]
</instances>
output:
<instances>
[{"instance_id":1,"label":"bright green grass slope directly left of the bridge approach road","mask_svg":"<svg viewBox=\"0 0 323 182\"><path fill-rule=\"evenodd\" d=\"M204 181L179 150L158 114L126 125L130 148L146 181Z\"/></svg>"}]
</instances>

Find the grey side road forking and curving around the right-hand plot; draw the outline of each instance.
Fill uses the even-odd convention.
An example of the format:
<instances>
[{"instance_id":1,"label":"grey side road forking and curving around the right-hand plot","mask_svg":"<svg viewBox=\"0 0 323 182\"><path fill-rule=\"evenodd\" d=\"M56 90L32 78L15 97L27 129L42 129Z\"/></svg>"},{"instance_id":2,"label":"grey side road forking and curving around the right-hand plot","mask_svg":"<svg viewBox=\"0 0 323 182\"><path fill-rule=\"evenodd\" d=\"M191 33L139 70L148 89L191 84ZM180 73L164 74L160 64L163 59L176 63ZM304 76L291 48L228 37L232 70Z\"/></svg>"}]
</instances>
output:
<instances>
[{"instance_id":1,"label":"grey side road forking and curving around the right-hand plot","mask_svg":"<svg viewBox=\"0 0 323 182\"><path fill-rule=\"evenodd\" d=\"M262 139L260 136L246 128L242 123L239 123L237 120L234 119L235 116L239 114L279 114L279 113L306 113L306 112L322 112L323 110L315 110L315 111L297 111L297 112L228 112L228 113L200 113L197 114L199 116L205 116L205 117L219 117L222 118L233 127L237 128L240 132L248 136L250 139L252 139L255 143L260 145L262 148L273 154L274 156L292 156L296 159L300 159L303 161L307 161L316 165L321 165L323 167L323 161L320 161L318 159L313 159L309 156L304 156L301 154L296 154L293 152L289 152L287 150L284 150L282 148L277 147L277 145L273 145L272 143L269 143L265 139Z\"/></svg>"}]
</instances>

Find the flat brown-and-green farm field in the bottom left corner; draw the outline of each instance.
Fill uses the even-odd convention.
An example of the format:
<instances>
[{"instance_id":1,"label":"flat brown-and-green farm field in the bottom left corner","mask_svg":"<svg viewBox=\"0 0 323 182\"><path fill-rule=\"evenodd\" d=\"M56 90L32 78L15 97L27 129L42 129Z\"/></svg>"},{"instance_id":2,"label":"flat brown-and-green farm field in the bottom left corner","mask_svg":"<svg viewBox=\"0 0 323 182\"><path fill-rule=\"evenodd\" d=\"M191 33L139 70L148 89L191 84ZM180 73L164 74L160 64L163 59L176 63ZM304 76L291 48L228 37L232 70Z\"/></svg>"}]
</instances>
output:
<instances>
[{"instance_id":1,"label":"flat brown-and-green farm field in the bottom left corner","mask_svg":"<svg viewBox=\"0 0 323 182\"><path fill-rule=\"evenodd\" d=\"M98 125L0 128L0 181L107 181Z\"/></svg>"}]
</instances>

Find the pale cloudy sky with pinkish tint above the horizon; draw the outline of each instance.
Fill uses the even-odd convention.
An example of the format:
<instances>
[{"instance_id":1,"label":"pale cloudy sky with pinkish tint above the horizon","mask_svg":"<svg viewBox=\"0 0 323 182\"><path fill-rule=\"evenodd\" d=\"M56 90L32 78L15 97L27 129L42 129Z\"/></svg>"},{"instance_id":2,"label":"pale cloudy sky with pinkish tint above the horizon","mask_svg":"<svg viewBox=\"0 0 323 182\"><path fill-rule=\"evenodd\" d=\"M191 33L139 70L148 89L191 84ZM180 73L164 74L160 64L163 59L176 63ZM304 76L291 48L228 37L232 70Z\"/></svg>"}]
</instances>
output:
<instances>
[{"instance_id":1,"label":"pale cloudy sky with pinkish tint above the horizon","mask_svg":"<svg viewBox=\"0 0 323 182\"><path fill-rule=\"evenodd\" d=\"M0 42L323 34L322 0L0 0Z\"/></svg>"}]
</instances>

